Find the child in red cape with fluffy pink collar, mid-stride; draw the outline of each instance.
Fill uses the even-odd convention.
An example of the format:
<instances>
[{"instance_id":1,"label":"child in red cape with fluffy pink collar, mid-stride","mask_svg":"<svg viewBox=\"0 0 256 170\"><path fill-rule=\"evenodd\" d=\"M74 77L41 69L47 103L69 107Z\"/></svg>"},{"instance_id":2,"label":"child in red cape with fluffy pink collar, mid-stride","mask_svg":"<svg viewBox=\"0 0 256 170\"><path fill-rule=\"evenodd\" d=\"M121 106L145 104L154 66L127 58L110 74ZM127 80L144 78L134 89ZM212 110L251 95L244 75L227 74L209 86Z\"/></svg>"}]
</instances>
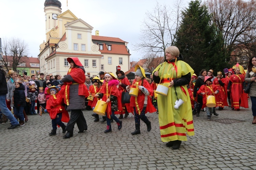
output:
<instances>
[{"instance_id":1,"label":"child in red cape with fluffy pink collar, mid-stride","mask_svg":"<svg viewBox=\"0 0 256 170\"><path fill-rule=\"evenodd\" d=\"M115 116L115 111L118 109L122 109L121 99L119 96L119 90L117 88L117 85L119 84L119 81L116 80L113 73L105 73L104 74L104 84L103 87L100 90L99 94L96 94L95 97L102 98L102 101L105 101L108 103L108 106L106 108L106 122L107 122L107 128L104 131L104 133L112 132L111 129L111 118L114 119L117 123L118 130L122 128L122 121L119 120Z\"/></svg>"}]
</instances>

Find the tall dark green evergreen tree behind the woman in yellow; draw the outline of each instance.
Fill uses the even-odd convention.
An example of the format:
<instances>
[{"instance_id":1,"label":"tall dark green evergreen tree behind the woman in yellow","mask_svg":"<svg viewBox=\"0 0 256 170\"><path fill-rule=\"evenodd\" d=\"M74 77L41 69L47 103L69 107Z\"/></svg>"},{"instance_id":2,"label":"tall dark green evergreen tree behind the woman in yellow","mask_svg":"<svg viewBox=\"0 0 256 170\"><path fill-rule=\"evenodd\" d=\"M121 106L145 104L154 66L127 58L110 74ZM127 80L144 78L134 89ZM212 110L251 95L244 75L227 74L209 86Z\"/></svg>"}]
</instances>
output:
<instances>
[{"instance_id":1,"label":"tall dark green evergreen tree behind the woman in yellow","mask_svg":"<svg viewBox=\"0 0 256 170\"><path fill-rule=\"evenodd\" d=\"M211 24L207 7L201 1L190 1L182 12L182 21L174 43L180 49L184 61L198 75L200 70L217 71L227 68L222 52L222 39Z\"/></svg>"}]
</instances>

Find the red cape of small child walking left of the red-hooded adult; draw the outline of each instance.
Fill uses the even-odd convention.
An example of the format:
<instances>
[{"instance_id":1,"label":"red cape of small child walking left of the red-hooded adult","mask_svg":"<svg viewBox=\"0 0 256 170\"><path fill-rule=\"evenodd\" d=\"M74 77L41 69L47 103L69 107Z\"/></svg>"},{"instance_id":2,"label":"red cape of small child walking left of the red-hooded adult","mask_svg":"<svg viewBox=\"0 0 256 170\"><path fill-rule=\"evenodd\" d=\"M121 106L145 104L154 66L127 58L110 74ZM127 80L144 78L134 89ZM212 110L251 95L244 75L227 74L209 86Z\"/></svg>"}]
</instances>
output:
<instances>
[{"instance_id":1,"label":"red cape of small child walking left of the red-hooded adult","mask_svg":"<svg viewBox=\"0 0 256 170\"><path fill-rule=\"evenodd\" d=\"M55 119L58 113L62 113L61 121L69 122L69 114L63 106L63 98L61 95L51 95L46 102L46 109L51 119Z\"/></svg>"}]
</instances>

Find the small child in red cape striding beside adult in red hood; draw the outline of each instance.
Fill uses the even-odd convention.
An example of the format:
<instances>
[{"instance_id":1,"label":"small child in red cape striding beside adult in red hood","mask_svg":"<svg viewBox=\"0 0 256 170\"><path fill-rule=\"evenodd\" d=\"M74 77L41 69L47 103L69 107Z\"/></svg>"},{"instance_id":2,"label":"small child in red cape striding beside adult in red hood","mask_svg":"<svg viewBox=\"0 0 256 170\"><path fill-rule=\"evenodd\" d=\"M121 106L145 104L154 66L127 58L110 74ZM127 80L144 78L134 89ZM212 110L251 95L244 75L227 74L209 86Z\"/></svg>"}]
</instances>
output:
<instances>
[{"instance_id":1,"label":"small child in red cape striding beside adult in red hood","mask_svg":"<svg viewBox=\"0 0 256 170\"><path fill-rule=\"evenodd\" d=\"M63 98L58 96L58 90L56 86L49 87L47 92L51 94L47 100L45 112L49 113L52 119L53 130L49 133L49 136L56 135L57 126L62 128L62 133L65 133L66 125L63 122L69 121L69 114L63 106Z\"/></svg>"}]
</instances>

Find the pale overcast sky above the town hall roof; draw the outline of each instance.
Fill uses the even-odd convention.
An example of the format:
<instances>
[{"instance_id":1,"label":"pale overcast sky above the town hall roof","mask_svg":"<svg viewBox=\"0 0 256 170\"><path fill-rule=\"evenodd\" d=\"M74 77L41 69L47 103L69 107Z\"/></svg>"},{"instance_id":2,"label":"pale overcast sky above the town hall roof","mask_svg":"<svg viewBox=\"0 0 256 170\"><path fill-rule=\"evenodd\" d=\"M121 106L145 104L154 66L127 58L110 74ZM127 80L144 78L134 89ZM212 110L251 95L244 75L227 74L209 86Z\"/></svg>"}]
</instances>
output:
<instances>
[{"instance_id":1,"label":"pale overcast sky above the town hall roof","mask_svg":"<svg viewBox=\"0 0 256 170\"><path fill-rule=\"evenodd\" d=\"M118 37L129 42L131 61L138 61L142 53L134 51L132 44L139 42L145 13L159 4L171 5L175 0L59 0L62 13L70 10L92 27L92 35ZM188 6L189 0L183 0ZM20 38L28 43L28 56L37 57L39 45L45 37L45 0L0 0L0 38Z\"/></svg>"}]
</instances>

